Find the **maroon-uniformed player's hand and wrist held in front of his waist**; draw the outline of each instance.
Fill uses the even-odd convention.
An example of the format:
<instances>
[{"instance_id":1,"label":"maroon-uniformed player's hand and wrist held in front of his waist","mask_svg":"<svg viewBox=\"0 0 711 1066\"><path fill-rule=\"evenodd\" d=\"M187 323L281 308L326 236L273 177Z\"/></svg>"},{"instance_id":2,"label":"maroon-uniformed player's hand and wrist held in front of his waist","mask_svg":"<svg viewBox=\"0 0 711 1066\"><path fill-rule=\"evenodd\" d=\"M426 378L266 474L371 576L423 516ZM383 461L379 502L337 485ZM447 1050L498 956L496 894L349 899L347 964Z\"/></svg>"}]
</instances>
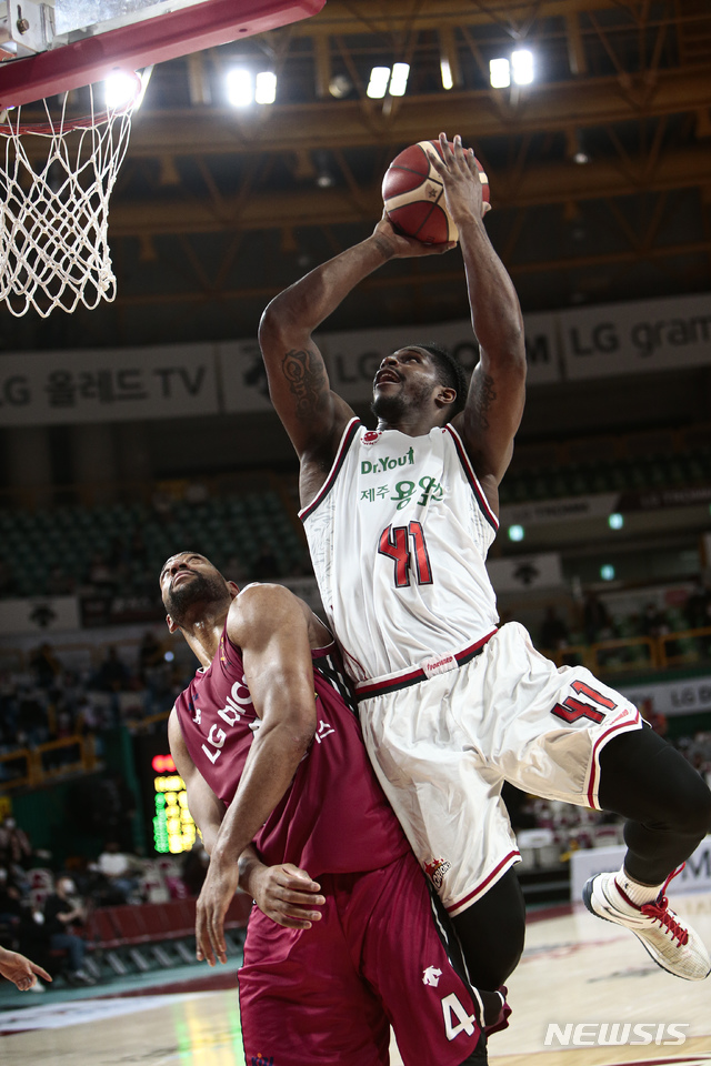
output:
<instances>
[{"instance_id":1,"label":"maroon-uniformed player's hand and wrist held in front of his waist","mask_svg":"<svg viewBox=\"0 0 711 1066\"><path fill-rule=\"evenodd\" d=\"M310 929L321 921L314 907L326 903L321 886L306 869L293 863L266 866L254 847L242 852L239 861L240 888L248 892L262 914L288 929Z\"/></svg>"}]
</instances>

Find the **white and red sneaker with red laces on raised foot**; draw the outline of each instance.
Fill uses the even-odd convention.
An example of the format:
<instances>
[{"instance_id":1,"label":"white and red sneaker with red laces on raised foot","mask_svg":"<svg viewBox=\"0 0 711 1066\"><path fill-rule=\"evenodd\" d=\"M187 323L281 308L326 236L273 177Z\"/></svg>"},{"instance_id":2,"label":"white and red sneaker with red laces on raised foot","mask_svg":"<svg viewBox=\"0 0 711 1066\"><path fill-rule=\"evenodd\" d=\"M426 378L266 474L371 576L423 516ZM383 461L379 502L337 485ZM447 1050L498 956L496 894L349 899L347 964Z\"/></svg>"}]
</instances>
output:
<instances>
[{"instance_id":1,"label":"white and red sneaker with red laces on raised foot","mask_svg":"<svg viewBox=\"0 0 711 1066\"><path fill-rule=\"evenodd\" d=\"M582 891L591 914L623 925L642 942L658 966L685 980L703 980L711 973L711 958L699 934L671 909L664 892L682 867L669 875L657 899L633 903L615 874L591 877Z\"/></svg>"}]
</instances>

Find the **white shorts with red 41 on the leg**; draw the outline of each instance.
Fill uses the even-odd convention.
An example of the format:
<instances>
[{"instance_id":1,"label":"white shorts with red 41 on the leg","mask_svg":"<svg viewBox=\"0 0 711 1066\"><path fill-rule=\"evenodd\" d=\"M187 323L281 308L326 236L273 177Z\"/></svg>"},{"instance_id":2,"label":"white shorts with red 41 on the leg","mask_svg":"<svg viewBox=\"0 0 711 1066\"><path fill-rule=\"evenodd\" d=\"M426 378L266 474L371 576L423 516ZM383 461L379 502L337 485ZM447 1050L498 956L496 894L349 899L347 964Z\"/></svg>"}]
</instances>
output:
<instances>
[{"instance_id":1,"label":"white shorts with red 41 on the leg","mask_svg":"<svg viewBox=\"0 0 711 1066\"><path fill-rule=\"evenodd\" d=\"M451 915L520 861L504 781L599 809L600 752L643 725L589 670L555 667L517 622L464 665L362 700L360 718L380 783Z\"/></svg>"}]
</instances>

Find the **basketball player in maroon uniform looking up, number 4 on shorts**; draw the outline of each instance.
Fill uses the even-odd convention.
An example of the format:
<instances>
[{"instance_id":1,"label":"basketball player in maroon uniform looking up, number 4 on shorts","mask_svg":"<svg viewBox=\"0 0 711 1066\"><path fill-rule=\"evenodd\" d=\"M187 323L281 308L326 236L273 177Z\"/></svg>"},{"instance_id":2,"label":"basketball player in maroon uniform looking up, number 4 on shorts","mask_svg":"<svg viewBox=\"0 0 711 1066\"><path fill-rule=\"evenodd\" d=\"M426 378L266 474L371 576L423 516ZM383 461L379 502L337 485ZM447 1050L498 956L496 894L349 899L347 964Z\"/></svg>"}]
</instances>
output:
<instances>
[{"instance_id":1,"label":"basketball player in maroon uniform looking up, number 4 on shorts","mask_svg":"<svg viewBox=\"0 0 711 1066\"><path fill-rule=\"evenodd\" d=\"M226 962L238 881L277 919L254 908L249 922L238 977L247 1062L384 1066L392 1024L407 1066L485 1063L481 1029L503 1024L502 997L471 987L450 957L331 634L287 589L239 592L202 555L169 559L160 584L170 631L202 663L169 722L211 856L198 957Z\"/></svg>"}]
</instances>

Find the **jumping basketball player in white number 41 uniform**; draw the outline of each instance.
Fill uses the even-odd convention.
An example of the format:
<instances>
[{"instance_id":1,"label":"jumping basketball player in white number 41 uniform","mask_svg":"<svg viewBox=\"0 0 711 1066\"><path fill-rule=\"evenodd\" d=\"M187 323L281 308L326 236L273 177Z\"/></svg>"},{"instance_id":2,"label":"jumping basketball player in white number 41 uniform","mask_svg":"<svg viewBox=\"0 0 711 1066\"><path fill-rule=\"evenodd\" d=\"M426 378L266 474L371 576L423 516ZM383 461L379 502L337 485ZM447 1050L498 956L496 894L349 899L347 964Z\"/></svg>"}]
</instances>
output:
<instances>
[{"instance_id":1,"label":"jumping basketball player in white number 41 uniform","mask_svg":"<svg viewBox=\"0 0 711 1066\"><path fill-rule=\"evenodd\" d=\"M469 392L455 361L422 344L382 361L374 431L330 390L317 326L389 259L453 247L400 237L384 218L277 296L260 326L369 754L479 987L502 984L523 947L504 781L628 819L623 867L590 882L585 903L631 928L665 969L701 979L709 955L664 891L711 827L711 793L620 693L582 667L555 668L521 625L498 627L484 560L523 411L523 326L483 227L473 155L460 138L453 150L444 134L440 144L443 161L432 160L459 229L480 344Z\"/></svg>"}]
</instances>

